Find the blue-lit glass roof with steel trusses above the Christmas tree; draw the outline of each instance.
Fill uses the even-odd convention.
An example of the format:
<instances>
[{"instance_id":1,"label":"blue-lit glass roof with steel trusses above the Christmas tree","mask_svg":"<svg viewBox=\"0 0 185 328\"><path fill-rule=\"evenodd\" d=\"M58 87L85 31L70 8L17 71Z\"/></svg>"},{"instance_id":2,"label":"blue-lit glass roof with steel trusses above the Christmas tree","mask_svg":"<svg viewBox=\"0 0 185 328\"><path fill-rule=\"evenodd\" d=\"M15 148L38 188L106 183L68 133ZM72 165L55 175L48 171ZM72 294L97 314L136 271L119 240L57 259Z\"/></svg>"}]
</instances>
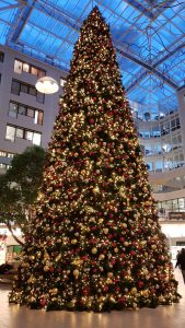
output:
<instances>
[{"instance_id":1,"label":"blue-lit glass roof with steel trusses above the Christmas tree","mask_svg":"<svg viewBox=\"0 0 185 328\"><path fill-rule=\"evenodd\" d=\"M94 5L109 24L127 96L163 110L185 84L184 0L1 0L0 44L69 70ZM166 101L166 102L165 102Z\"/></svg>"}]
</instances>

